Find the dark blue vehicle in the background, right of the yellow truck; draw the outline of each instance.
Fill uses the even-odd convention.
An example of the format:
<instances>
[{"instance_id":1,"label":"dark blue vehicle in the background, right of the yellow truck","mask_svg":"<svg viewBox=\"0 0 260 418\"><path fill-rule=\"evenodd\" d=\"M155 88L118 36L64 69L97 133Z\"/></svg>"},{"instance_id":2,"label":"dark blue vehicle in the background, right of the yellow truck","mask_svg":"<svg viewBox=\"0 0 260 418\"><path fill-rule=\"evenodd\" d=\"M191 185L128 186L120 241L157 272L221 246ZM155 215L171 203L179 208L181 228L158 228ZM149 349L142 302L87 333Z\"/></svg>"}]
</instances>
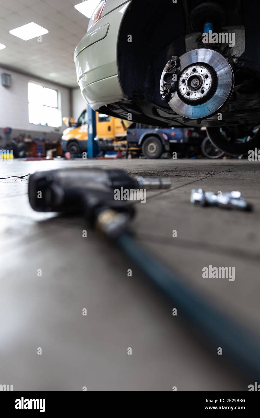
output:
<instances>
[{"instance_id":1,"label":"dark blue vehicle in the background, right of the yellow truck","mask_svg":"<svg viewBox=\"0 0 260 418\"><path fill-rule=\"evenodd\" d=\"M166 152L186 157L200 153L205 136L206 132L200 128L160 128L133 123L127 130L127 153L135 149L145 158L160 158Z\"/></svg>"}]
</instances>

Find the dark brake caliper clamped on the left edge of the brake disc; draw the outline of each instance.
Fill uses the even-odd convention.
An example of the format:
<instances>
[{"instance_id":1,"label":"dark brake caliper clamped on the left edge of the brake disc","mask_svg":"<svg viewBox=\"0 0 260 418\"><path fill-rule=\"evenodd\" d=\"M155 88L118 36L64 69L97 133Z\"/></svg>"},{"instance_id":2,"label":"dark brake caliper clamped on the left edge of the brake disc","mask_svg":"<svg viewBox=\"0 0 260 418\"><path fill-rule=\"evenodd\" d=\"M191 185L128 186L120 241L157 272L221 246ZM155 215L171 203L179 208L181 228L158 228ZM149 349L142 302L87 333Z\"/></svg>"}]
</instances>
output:
<instances>
[{"instance_id":1,"label":"dark brake caliper clamped on the left edge of the brake disc","mask_svg":"<svg viewBox=\"0 0 260 418\"><path fill-rule=\"evenodd\" d=\"M179 58L177 55L172 56L162 72L160 81L160 94L162 101L168 103L172 93L175 91L177 76L179 74Z\"/></svg>"}]
</instances>

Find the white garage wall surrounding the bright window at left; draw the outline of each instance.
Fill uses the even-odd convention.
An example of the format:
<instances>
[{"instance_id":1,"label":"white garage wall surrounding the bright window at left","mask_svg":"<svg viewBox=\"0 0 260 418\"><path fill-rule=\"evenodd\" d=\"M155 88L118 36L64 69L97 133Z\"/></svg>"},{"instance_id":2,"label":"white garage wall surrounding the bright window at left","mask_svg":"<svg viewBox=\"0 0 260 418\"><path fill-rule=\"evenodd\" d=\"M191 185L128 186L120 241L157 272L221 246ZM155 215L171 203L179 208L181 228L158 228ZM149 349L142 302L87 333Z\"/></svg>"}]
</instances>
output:
<instances>
[{"instance_id":1,"label":"white garage wall surrounding the bright window at left","mask_svg":"<svg viewBox=\"0 0 260 418\"><path fill-rule=\"evenodd\" d=\"M59 104L61 105L61 116L71 116L70 113L70 90L50 82L43 82L33 76L26 76L9 71L0 67L0 74L3 72L11 74L11 87L3 87L0 83L0 128L11 127L23 131L52 132L53 127L33 125L28 118L28 82L38 82L45 87L55 88L59 92ZM62 122L60 131L66 129Z\"/></svg>"}]
</instances>

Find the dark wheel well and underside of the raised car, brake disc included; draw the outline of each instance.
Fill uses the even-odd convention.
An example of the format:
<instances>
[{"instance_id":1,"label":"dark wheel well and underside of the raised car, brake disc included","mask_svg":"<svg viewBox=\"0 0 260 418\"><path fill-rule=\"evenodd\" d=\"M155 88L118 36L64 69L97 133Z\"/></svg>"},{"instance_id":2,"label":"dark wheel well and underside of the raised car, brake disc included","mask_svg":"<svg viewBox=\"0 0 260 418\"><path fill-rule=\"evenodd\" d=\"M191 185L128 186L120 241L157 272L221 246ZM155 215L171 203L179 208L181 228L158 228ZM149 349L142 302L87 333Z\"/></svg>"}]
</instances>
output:
<instances>
[{"instance_id":1,"label":"dark wheel well and underside of the raised car, brake disc included","mask_svg":"<svg viewBox=\"0 0 260 418\"><path fill-rule=\"evenodd\" d=\"M257 1L133 0L118 43L126 99L100 111L162 127L203 125L227 153L257 146L259 12Z\"/></svg>"}]
</instances>

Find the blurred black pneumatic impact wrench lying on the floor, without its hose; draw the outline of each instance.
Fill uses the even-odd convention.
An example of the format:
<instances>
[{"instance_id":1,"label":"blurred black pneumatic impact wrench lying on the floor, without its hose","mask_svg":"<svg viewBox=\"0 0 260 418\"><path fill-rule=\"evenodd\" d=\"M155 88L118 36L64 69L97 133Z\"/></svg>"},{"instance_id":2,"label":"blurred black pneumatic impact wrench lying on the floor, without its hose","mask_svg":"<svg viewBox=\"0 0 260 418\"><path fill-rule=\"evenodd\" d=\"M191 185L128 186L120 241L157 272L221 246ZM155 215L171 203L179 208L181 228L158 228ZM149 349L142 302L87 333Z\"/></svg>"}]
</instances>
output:
<instances>
[{"instance_id":1,"label":"blurred black pneumatic impact wrench lying on the floor, without its hose","mask_svg":"<svg viewBox=\"0 0 260 418\"><path fill-rule=\"evenodd\" d=\"M88 222L113 237L134 216L134 206L115 200L114 190L168 189L169 180L131 177L124 170L61 168L30 175L28 194L38 212L79 212Z\"/></svg>"}]
</instances>

